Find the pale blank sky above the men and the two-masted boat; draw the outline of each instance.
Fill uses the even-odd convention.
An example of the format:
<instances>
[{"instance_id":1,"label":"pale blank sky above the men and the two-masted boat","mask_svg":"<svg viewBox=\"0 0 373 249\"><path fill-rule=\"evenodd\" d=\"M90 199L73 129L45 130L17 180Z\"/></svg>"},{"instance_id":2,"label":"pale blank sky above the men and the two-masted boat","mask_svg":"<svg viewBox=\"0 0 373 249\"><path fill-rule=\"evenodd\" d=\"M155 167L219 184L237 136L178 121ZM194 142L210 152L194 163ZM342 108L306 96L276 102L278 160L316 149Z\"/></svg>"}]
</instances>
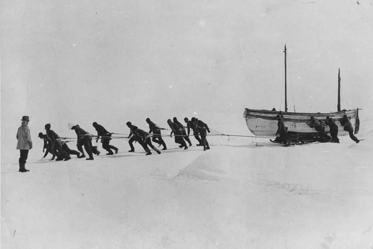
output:
<instances>
[{"instance_id":1,"label":"pale blank sky above the men and the two-masted boat","mask_svg":"<svg viewBox=\"0 0 373 249\"><path fill-rule=\"evenodd\" d=\"M1 133L372 106L372 1L3 1ZM294 101L293 101L294 99ZM363 111L362 111L363 112ZM233 122L233 121L232 121ZM236 125L236 121L232 125ZM12 131L13 131L12 130ZM94 131L94 130L93 130ZM248 131L248 130L247 130ZM35 134L35 136L36 136ZM3 141L2 141L3 142Z\"/></svg>"}]
</instances>

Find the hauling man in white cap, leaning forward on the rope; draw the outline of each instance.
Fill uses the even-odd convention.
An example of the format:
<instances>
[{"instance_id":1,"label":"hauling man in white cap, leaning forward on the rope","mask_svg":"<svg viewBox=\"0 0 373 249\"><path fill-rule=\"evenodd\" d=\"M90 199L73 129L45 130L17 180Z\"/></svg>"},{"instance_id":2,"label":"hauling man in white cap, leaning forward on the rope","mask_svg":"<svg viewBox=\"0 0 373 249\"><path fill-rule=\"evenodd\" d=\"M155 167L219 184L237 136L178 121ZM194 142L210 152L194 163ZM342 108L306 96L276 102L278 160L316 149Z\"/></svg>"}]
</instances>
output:
<instances>
[{"instance_id":1,"label":"hauling man in white cap, leaning forward on the rope","mask_svg":"<svg viewBox=\"0 0 373 249\"><path fill-rule=\"evenodd\" d=\"M70 130L75 131L76 136L78 138L76 147L78 147L78 150L82 153L82 155L79 156L79 158L85 157L83 146L89 156L89 158L86 158L86 160L94 160L93 153L95 155L100 155L100 152L97 150L97 146L92 146L92 137L93 137L92 134L80 128L79 125L73 125L70 123L68 124L68 127Z\"/></svg>"}]
</instances>

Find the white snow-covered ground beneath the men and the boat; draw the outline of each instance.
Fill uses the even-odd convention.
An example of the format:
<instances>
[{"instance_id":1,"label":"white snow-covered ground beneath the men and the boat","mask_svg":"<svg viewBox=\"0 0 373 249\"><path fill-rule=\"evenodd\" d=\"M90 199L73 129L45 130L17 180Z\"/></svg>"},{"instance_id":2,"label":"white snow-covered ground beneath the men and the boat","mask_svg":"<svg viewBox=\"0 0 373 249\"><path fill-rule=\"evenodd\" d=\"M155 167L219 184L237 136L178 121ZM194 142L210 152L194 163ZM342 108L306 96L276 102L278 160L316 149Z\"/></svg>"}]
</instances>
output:
<instances>
[{"instance_id":1,"label":"white snow-covered ground beneath the men and the boat","mask_svg":"<svg viewBox=\"0 0 373 249\"><path fill-rule=\"evenodd\" d=\"M369 129L359 144L166 137L145 156L113 139L119 152L94 161L2 162L1 248L372 248Z\"/></svg>"}]
</instances>

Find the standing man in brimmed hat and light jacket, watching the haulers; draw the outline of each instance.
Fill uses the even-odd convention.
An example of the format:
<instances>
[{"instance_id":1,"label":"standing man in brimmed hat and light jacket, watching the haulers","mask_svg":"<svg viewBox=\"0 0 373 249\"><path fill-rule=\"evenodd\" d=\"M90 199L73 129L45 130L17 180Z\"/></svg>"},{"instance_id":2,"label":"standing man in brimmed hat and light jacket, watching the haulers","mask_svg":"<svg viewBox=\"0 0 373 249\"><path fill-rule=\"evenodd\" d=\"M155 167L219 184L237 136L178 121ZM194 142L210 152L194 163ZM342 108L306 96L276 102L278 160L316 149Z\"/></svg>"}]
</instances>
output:
<instances>
[{"instance_id":1,"label":"standing man in brimmed hat and light jacket, watching the haulers","mask_svg":"<svg viewBox=\"0 0 373 249\"><path fill-rule=\"evenodd\" d=\"M28 156L28 150L32 149L32 141L30 136L30 129L28 128L28 122L30 121L28 116L23 116L22 125L18 128L17 131L17 150L20 150L19 156L19 172L27 172L28 169L25 169L25 164Z\"/></svg>"}]
</instances>

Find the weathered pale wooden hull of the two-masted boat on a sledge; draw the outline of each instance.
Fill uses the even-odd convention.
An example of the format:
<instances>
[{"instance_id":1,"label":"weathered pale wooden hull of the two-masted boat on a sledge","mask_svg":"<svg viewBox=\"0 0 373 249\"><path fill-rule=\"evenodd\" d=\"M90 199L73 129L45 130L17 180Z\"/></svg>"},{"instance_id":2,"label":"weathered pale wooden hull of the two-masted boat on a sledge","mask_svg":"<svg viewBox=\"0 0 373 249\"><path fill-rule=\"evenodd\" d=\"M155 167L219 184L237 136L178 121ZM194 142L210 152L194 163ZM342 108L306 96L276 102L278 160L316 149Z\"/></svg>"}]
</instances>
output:
<instances>
[{"instance_id":1,"label":"weathered pale wooden hull of the two-masted boat on a sledge","mask_svg":"<svg viewBox=\"0 0 373 249\"><path fill-rule=\"evenodd\" d=\"M256 136L260 137L275 137L277 131L277 120L276 115L278 111L266 111L266 110L254 110L245 108L244 118L246 120L247 127ZM357 120L357 110L331 112L331 113L294 113L294 112L283 112L283 119L285 127L288 133L300 133L303 135L316 134L317 131L314 128L310 128L310 117L314 116L316 119L326 121L326 116L330 116L335 120L338 125L338 136L348 135L347 131L343 130L341 125L341 119L343 115L347 115L354 126ZM329 133L329 126L325 125L325 133Z\"/></svg>"}]
</instances>

